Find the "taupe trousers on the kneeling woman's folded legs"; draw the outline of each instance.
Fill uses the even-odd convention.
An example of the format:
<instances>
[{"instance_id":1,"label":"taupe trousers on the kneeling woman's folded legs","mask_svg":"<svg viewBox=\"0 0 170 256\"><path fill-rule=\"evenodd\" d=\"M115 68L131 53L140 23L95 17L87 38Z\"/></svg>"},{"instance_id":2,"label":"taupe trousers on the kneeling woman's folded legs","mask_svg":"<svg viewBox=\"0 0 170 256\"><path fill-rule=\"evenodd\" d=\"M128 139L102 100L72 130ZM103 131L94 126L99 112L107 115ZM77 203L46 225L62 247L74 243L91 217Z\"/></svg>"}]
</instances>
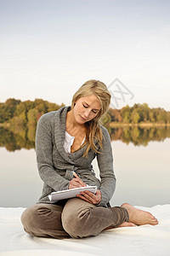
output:
<instances>
[{"instance_id":1,"label":"taupe trousers on the kneeling woman's folded legs","mask_svg":"<svg viewBox=\"0 0 170 256\"><path fill-rule=\"evenodd\" d=\"M36 204L21 216L24 229L31 236L82 238L97 236L108 227L116 228L128 221L123 207L96 207L79 198L59 204Z\"/></svg>"}]
</instances>

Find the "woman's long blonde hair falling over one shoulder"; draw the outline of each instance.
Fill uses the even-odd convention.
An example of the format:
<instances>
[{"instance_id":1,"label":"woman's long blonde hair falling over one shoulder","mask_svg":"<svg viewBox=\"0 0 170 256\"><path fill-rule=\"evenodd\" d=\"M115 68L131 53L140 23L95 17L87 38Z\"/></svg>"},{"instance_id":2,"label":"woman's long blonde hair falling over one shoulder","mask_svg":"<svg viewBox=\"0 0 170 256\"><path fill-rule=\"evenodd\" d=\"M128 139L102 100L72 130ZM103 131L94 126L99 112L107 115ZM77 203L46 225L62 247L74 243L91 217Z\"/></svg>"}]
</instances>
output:
<instances>
[{"instance_id":1,"label":"woman's long blonde hair falling over one shoulder","mask_svg":"<svg viewBox=\"0 0 170 256\"><path fill-rule=\"evenodd\" d=\"M71 103L71 109L74 108L75 103L78 99L80 99L83 96L89 96L94 94L99 100L99 103L101 105L101 109L99 110L99 113L96 115L96 117L88 122L85 123L86 126L86 140L82 144L82 147L84 144L87 145L85 153L83 156L88 157L88 151L90 148L94 150L94 152L99 153L97 150L97 147L94 143L94 139L97 140L99 143L99 147L103 149L102 145L102 138L103 134L100 127L100 122L104 114L107 112L110 102L111 102L111 93L107 89L106 85L99 80L88 80L82 86L77 90L77 92L72 97L72 103Z\"/></svg>"}]
</instances>

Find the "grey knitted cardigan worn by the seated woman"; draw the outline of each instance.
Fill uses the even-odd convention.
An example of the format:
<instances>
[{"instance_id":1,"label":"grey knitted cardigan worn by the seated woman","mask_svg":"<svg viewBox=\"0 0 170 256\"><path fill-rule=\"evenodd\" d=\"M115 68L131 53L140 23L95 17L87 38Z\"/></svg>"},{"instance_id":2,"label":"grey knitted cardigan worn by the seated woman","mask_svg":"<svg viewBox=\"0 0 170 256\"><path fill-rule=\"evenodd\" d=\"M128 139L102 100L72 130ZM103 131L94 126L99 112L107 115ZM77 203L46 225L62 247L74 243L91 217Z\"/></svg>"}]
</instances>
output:
<instances>
[{"instance_id":1,"label":"grey knitted cardigan worn by the seated woman","mask_svg":"<svg viewBox=\"0 0 170 256\"><path fill-rule=\"evenodd\" d=\"M69 181L77 172L84 183L97 185L101 191L102 199L98 206L105 206L113 195L116 187L116 177L113 172L113 157L111 139L108 131L101 125L103 132L103 150L95 145L101 154L94 150L88 151L88 158L82 157L85 146L74 153L65 152L65 119L66 113L71 107L59 108L59 110L45 113L38 120L36 135L37 167L42 178L42 196L38 203L50 203L48 195L51 192L68 189ZM95 177L92 161L95 156L98 160L100 180Z\"/></svg>"}]
</instances>

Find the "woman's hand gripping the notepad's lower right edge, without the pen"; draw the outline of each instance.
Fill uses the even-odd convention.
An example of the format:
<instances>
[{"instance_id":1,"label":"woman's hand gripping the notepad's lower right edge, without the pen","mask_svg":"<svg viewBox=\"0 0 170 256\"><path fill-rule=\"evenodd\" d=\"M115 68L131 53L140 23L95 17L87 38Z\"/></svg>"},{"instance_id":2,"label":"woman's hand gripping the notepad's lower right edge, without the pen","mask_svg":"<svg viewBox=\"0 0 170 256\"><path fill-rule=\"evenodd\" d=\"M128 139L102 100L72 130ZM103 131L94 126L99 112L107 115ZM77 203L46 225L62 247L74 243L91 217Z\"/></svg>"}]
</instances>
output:
<instances>
[{"instance_id":1,"label":"woman's hand gripping the notepad's lower right edge, without the pen","mask_svg":"<svg viewBox=\"0 0 170 256\"><path fill-rule=\"evenodd\" d=\"M90 204L97 205L101 201L101 192L97 189L96 194L90 191L83 191L81 195L77 195L78 198L81 198L84 201L88 201Z\"/></svg>"}]
</instances>

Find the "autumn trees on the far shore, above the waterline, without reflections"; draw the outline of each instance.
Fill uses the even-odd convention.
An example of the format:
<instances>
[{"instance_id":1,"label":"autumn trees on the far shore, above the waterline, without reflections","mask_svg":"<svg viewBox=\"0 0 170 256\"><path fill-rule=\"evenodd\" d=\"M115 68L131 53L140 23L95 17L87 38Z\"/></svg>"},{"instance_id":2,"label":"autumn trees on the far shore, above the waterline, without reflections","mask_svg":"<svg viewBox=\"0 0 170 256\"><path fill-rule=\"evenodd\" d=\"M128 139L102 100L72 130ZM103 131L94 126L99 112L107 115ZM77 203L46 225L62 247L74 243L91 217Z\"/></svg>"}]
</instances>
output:
<instances>
[{"instance_id":1,"label":"autumn trees on the far shore, above the waterline, without reflections","mask_svg":"<svg viewBox=\"0 0 170 256\"><path fill-rule=\"evenodd\" d=\"M48 113L65 106L64 103L58 105L42 99L35 101L21 102L14 98L0 103L0 124L32 126L37 124L37 120L43 113ZM146 103L134 104L133 107L123 107L121 109L110 108L105 115L105 123L158 123L170 124L170 112L163 108L149 108Z\"/></svg>"}]
</instances>

